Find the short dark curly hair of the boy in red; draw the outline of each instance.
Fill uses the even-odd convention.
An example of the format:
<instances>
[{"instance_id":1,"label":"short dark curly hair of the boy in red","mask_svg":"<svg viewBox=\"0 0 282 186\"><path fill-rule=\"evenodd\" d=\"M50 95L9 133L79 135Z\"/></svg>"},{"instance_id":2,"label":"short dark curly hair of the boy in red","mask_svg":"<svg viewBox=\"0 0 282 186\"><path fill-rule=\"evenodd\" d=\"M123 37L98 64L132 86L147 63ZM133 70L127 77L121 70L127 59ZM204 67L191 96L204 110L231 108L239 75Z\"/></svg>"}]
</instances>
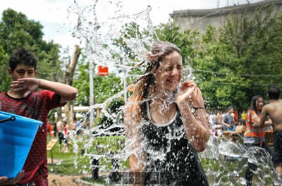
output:
<instances>
[{"instance_id":1,"label":"short dark curly hair of the boy in red","mask_svg":"<svg viewBox=\"0 0 282 186\"><path fill-rule=\"evenodd\" d=\"M36 70L37 61L32 51L26 48L20 48L16 51L13 51L13 54L9 59L9 66L13 71L19 64L32 66Z\"/></svg>"}]
</instances>

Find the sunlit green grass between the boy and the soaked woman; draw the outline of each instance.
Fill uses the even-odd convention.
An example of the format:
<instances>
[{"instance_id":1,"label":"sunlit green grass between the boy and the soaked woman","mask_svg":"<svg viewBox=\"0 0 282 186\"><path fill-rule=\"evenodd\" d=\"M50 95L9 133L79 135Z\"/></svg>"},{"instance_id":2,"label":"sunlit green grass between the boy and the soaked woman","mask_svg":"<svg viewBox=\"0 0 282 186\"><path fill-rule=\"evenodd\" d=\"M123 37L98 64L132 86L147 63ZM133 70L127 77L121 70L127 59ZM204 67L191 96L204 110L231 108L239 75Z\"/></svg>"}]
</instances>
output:
<instances>
[{"instance_id":1,"label":"sunlit green grass between the boy and the soaked woman","mask_svg":"<svg viewBox=\"0 0 282 186\"><path fill-rule=\"evenodd\" d=\"M48 136L47 143L54 139L54 137ZM123 142L125 137L96 137L90 147L87 147L87 154L110 154L116 153L119 149L123 149ZM61 175L85 175L91 173L90 163L91 159L85 154L85 142L87 139L82 139L82 142L78 142L79 153L73 153L73 147L69 148L68 153L59 152L59 142L52 149L53 159L61 160L61 163L54 163L54 169L51 171L52 166L48 166L49 173L61 174ZM63 149L63 147L62 147ZM51 158L51 151L47 151L47 157ZM75 166L76 165L76 166ZM111 159L102 158L99 160L99 166L103 166L104 170L111 171ZM129 161L121 161L121 167L128 168Z\"/></svg>"}]
</instances>

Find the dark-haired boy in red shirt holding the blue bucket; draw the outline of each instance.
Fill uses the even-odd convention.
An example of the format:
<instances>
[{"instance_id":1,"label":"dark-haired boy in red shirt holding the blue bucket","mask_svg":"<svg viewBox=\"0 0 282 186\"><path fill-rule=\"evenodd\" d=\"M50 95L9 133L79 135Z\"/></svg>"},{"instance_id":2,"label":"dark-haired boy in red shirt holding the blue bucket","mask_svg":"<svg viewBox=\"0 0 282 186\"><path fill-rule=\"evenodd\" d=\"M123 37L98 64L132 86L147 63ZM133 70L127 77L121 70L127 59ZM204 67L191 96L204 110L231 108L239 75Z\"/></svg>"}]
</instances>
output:
<instances>
[{"instance_id":1,"label":"dark-haired boy in red shirt holding the blue bucket","mask_svg":"<svg viewBox=\"0 0 282 186\"><path fill-rule=\"evenodd\" d=\"M1 111L41 120L35 140L16 178L7 180L0 175L0 185L47 186L47 116L51 109L75 99L78 89L59 82L36 79L37 60L32 52L22 48L9 59L8 74L12 78L11 89L0 94ZM43 89L35 92L37 89Z\"/></svg>"}]
</instances>

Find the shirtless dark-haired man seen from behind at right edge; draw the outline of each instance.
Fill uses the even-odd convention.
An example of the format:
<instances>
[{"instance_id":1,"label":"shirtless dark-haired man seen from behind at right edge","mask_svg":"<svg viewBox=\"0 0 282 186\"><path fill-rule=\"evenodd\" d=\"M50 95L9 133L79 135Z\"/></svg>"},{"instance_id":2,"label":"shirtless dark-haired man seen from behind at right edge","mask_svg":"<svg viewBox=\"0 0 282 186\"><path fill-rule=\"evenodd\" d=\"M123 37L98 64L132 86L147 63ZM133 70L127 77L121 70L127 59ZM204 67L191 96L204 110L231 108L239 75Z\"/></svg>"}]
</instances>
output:
<instances>
[{"instance_id":1,"label":"shirtless dark-haired man seen from behind at right edge","mask_svg":"<svg viewBox=\"0 0 282 186\"><path fill-rule=\"evenodd\" d=\"M257 127L266 126L264 122L267 116L271 118L274 126L274 166L276 171L282 175L282 101L279 99L280 89L276 86L270 87L267 96L270 103L262 108L262 118Z\"/></svg>"}]
</instances>

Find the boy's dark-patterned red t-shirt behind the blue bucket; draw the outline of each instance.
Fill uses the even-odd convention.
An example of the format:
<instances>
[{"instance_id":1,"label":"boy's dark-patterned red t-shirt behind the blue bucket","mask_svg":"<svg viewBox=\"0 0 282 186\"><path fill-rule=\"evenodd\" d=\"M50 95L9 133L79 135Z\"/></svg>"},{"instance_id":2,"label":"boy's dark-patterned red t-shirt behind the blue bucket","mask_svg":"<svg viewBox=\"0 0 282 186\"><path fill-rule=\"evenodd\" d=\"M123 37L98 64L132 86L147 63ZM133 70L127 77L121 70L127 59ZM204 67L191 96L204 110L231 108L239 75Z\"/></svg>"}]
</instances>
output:
<instances>
[{"instance_id":1,"label":"boy's dark-patterned red t-shirt behind the blue bucket","mask_svg":"<svg viewBox=\"0 0 282 186\"><path fill-rule=\"evenodd\" d=\"M63 106L60 104L60 99L58 94L49 90L32 92L29 97L24 99L12 98L6 92L0 94L1 111L43 122L37 131L23 166L25 175L18 184L47 179L47 116L51 109Z\"/></svg>"}]
</instances>

